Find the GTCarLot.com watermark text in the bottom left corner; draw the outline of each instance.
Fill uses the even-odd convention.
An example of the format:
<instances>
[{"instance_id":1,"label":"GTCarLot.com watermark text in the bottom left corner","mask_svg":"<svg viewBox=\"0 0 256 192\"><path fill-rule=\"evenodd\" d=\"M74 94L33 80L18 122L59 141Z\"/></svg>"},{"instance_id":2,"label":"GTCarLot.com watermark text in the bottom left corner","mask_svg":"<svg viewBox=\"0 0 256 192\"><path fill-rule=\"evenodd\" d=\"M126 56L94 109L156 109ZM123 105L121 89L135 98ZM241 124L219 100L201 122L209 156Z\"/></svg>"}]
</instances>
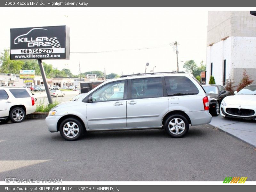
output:
<instances>
[{"instance_id":1,"label":"GTCarLot.com watermark text in the bottom left corner","mask_svg":"<svg viewBox=\"0 0 256 192\"><path fill-rule=\"evenodd\" d=\"M62 179L20 179L16 177L6 177L4 181L6 183L62 183Z\"/></svg>"}]
</instances>

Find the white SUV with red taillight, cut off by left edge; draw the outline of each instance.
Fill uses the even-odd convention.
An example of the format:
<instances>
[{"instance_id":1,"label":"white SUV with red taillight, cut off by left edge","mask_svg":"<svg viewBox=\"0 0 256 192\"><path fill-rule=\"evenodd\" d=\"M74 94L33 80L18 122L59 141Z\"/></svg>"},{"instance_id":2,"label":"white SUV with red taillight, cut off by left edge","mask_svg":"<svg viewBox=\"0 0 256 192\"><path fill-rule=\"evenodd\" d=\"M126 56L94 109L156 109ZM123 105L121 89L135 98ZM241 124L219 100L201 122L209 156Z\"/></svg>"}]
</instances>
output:
<instances>
[{"instance_id":1,"label":"white SUV with red taillight, cut off by left edge","mask_svg":"<svg viewBox=\"0 0 256 192\"><path fill-rule=\"evenodd\" d=\"M23 87L0 87L0 121L22 122L26 114L36 111L35 100Z\"/></svg>"}]
</instances>

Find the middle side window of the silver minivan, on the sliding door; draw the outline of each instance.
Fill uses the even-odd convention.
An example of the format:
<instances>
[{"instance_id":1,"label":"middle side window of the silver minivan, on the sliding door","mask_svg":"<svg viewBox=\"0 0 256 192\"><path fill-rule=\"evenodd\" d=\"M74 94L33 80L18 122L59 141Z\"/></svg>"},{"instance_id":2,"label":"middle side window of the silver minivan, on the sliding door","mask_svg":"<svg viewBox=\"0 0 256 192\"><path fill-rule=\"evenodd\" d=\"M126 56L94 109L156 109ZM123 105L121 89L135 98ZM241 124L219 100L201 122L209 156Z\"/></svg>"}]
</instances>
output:
<instances>
[{"instance_id":1,"label":"middle side window of the silver minivan, on the sliding door","mask_svg":"<svg viewBox=\"0 0 256 192\"><path fill-rule=\"evenodd\" d=\"M164 97L163 81L161 77L132 79L132 99L153 97Z\"/></svg>"}]
</instances>

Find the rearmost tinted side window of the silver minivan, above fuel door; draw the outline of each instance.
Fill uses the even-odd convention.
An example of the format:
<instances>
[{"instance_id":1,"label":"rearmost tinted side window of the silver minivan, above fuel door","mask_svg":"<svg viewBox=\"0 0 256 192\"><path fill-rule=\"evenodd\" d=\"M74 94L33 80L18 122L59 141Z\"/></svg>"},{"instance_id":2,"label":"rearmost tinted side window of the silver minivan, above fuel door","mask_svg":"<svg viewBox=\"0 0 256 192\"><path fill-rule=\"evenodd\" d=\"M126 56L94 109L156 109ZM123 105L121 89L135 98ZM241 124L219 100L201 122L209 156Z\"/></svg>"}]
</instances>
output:
<instances>
[{"instance_id":1,"label":"rearmost tinted side window of the silver minivan, above fuel door","mask_svg":"<svg viewBox=\"0 0 256 192\"><path fill-rule=\"evenodd\" d=\"M196 85L185 76L164 77L168 96L196 95L199 93Z\"/></svg>"}]
</instances>

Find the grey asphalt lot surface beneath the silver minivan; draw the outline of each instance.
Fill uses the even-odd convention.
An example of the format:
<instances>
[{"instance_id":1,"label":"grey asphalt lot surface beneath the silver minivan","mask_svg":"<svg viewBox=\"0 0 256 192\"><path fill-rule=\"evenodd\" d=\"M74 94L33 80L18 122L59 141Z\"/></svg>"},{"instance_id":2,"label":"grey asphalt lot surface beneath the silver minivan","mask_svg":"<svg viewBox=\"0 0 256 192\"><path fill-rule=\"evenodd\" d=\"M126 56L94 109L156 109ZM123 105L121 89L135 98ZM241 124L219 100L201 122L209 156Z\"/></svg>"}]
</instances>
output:
<instances>
[{"instance_id":1,"label":"grey asphalt lot surface beneath the silver minivan","mask_svg":"<svg viewBox=\"0 0 256 192\"><path fill-rule=\"evenodd\" d=\"M94 180L256 180L256 150L210 125L184 138L163 130L89 132L65 141L45 120L0 123L0 180L6 177Z\"/></svg>"}]
</instances>

